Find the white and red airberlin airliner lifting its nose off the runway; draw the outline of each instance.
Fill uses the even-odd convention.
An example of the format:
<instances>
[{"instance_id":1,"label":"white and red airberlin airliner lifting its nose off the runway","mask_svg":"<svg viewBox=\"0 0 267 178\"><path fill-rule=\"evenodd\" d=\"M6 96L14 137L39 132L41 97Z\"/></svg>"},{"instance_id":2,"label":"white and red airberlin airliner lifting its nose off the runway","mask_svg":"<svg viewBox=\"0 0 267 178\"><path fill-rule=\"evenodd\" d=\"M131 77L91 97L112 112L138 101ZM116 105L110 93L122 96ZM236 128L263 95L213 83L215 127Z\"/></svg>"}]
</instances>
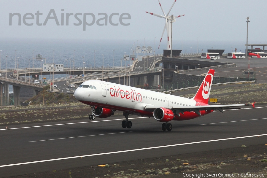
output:
<instances>
[{"instance_id":1,"label":"white and red airberlin airliner lifting its nose off the runway","mask_svg":"<svg viewBox=\"0 0 267 178\"><path fill-rule=\"evenodd\" d=\"M119 110L123 111L126 119L122 121L123 128L131 128L132 123L128 120L128 115L132 114L154 117L157 121L163 122L163 131L171 131L171 120L189 120L214 110L223 112L223 109L236 109L231 107L254 107L255 103L209 105L213 75L214 70L209 69L196 95L190 99L100 80L83 82L76 89L74 96L78 101L91 106L92 115L89 115L89 119L106 118Z\"/></svg>"}]
</instances>

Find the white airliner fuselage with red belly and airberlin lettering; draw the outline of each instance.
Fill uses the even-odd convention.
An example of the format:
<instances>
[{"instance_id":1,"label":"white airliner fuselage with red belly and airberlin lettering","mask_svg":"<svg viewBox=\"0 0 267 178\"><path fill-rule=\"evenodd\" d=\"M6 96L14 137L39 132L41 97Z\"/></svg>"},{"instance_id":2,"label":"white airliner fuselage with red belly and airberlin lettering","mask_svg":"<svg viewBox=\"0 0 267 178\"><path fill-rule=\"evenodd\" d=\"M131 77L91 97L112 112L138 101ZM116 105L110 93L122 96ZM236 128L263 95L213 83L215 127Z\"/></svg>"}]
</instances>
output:
<instances>
[{"instance_id":1,"label":"white airliner fuselage with red belly and airberlin lettering","mask_svg":"<svg viewBox=\"0 0 267 178\"><path fill-rule=\"evenodd\" d=\"M94 89L95 88L95 89ZM193 99L159 93L100 80L83 82L74 93L75 98L84 104L119 110L128 114L153 117L153 111L146 106L186 107L203 105ZM204 104L205 105L205 104ZM200 111L201 116L212 112ZM175 115L173 120L188 120L199 117L194 111Z\"/></svg>"}]
</instances>

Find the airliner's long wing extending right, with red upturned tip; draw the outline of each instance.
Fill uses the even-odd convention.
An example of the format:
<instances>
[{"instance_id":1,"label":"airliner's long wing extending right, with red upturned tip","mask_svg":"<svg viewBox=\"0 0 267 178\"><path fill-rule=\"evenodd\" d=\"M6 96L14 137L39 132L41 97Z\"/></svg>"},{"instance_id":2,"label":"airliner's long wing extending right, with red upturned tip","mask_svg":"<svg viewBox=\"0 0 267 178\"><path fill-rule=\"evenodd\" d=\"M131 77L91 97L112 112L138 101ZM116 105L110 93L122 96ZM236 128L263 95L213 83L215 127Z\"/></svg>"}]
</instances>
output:
<instances>
[{"instance_id":1,"label":"airliner's long wing extending right, with red upturned tip","mask_svg":"<svg viewBox=\"0 0 267 178\"><path fill-rule=\"evenodd\" d=\"M163 108L176 110L177 111L176 113L183 113L185 111L189 111L189 112L194 111L198 115L200 115L199 111L202 111L202 110L218 110L220 112L223 112L223 109L239 109L236 107L248 106L248 105L252 105L254 107L254 104L255 103L253 103L253 104L206 105L206 106L179 106L179 107L165 106ZM154 109L156 109L156 108L160 108L160 106L147 105L145 107L145 109L147 111L150 111L150 112L153 112Z\"/></svg>"}]
</instances>

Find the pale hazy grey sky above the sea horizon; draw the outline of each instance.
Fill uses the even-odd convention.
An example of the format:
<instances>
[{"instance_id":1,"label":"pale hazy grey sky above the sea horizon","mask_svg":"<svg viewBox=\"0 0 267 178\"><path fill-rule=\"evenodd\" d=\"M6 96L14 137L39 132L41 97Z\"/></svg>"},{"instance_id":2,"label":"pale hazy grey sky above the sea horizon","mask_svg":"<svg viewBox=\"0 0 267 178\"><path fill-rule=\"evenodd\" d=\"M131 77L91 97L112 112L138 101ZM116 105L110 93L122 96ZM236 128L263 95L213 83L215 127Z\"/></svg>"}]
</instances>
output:
<instances>
[{"instance_id":1,"label":"pale hazy grey sky above the sea horizon","mask_svg":"<svg viewBox=\"0 0 267 178\"><path fill-rule=\"evenodd\" d=\"M161 0L160 2L167 13L174 0ZM180 40L183 36L185 41L197 40L197 38L203 41L246 41L246 18L249 16L249 42L267 43L266 7L266 0L177 0L170 15L185 14L185 16L177 18L173 24L173 37ZM37 11L42 13L38 15L39 21L35 15ZM55 18L51 18L54 17L52 11L56 14L58 25ZM145 11L163 15L157 0L0 0L0 38L140 39L140 41L146 39L154 41L156 37L158 41L165 20L147 14ZM50 16L48 16L49 12L52 13ZM12 17L12 25L9 25L9 13L21 15L21 26L18 25L17 15ZM29 13L25 16L28 19L24 19L24 22L33 23L31 26L23 23L23 16L26 13ZM63 25L61 24L62 13L64 15ZM67 13L73 13L69 16L68 26L66 26ZM92 23L92 14L95 16L95 22L91 26L83 26L85 13L91 13L87 15L88 24ZM105 23L105 20L101 20L104 15L98 15L99 13L107 14L107 25L98 25ZM118 13L118 15L113 13ZM120 23L120 15L123 13L126 13L122 16L126 19L121 19L124 25ZM80 22L74 17L75 14ZM131 19L127 19L129 15ZM117 26L111 25L110 22ZM128 23L129 25L125 26ZM163 38L166 39L166 34Z\"/></svg>"}]
</instances>

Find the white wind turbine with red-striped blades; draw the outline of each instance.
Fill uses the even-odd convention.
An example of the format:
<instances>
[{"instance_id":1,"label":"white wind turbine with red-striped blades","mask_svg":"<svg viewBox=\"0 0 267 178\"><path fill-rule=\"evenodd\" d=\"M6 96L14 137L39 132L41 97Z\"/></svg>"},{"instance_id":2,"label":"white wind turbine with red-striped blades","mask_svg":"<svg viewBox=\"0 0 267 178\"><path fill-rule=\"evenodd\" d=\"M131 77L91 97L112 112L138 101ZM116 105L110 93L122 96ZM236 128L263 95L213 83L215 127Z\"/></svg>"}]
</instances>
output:
<instances>
[{"instance_id":1,"label":"white wind turbine with red-striped blades","mask_svg":"<svg viewBox=\"0 0 267 178\"><path fill-rule=\"evenodd\" d=\"M178 17L182 17L184 15L178 15L178 16L171 16L169 15L172 7L174 6L174 3L176 2L176 0L174 0L173 4L171 5L171 8L169 9L169 12L167 14L165 14L161 4L160 4L160 1L158 0L158 3L160 5L160 8L163 12L163 15L159 15L159 14L155 14L155 13L152 13L152 12L147 12L148 14L151 14L151 15L154 15L156 17L160 17L160 18L165 18L165 26L164 26L164 29L163 29L163 32L162 32L162 35L161 35L161 38L160 38L160 42L162 40L162 37L163 37L163 34L165 32L165 29L167 28L167 49L171 49L171 44L170 44L170 36L171 36L171 23L175 22L175 18L178 18ZM158 45L158 48L160 47L160 43Z\"/></svg>"}]
</instances>

